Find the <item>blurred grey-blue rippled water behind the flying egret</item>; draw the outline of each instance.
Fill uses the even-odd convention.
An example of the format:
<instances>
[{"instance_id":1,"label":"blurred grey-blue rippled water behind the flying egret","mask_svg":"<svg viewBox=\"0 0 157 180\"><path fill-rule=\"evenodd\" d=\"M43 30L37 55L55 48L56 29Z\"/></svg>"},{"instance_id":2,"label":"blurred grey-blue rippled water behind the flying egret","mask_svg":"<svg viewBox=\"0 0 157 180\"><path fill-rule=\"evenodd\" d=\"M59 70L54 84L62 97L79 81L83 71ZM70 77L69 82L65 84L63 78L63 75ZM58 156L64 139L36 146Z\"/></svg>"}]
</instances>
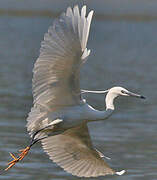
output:
<instances>
[{"instance_id":1,"label":"blurred grey-blue rippled water behind the flying egret","mask_svg":"<svg viewBox=\"0 0 157 180\"><path fill-rule=\"evenodd\" d=\"M91 55L81 87L124 86L147 97L119 98L107 121L89 125L93 144L123 176L89 179L157 179L157 1L156 0L0 0L0 168L29 143L26 118L32 106L33 63L54 18L68 6L94 9L88 41ZM104 109L102 95L86 96ZM7 180L77 180L52 163L40 144L23 162L0 176Z\"/></svg>"}]
</instances>

